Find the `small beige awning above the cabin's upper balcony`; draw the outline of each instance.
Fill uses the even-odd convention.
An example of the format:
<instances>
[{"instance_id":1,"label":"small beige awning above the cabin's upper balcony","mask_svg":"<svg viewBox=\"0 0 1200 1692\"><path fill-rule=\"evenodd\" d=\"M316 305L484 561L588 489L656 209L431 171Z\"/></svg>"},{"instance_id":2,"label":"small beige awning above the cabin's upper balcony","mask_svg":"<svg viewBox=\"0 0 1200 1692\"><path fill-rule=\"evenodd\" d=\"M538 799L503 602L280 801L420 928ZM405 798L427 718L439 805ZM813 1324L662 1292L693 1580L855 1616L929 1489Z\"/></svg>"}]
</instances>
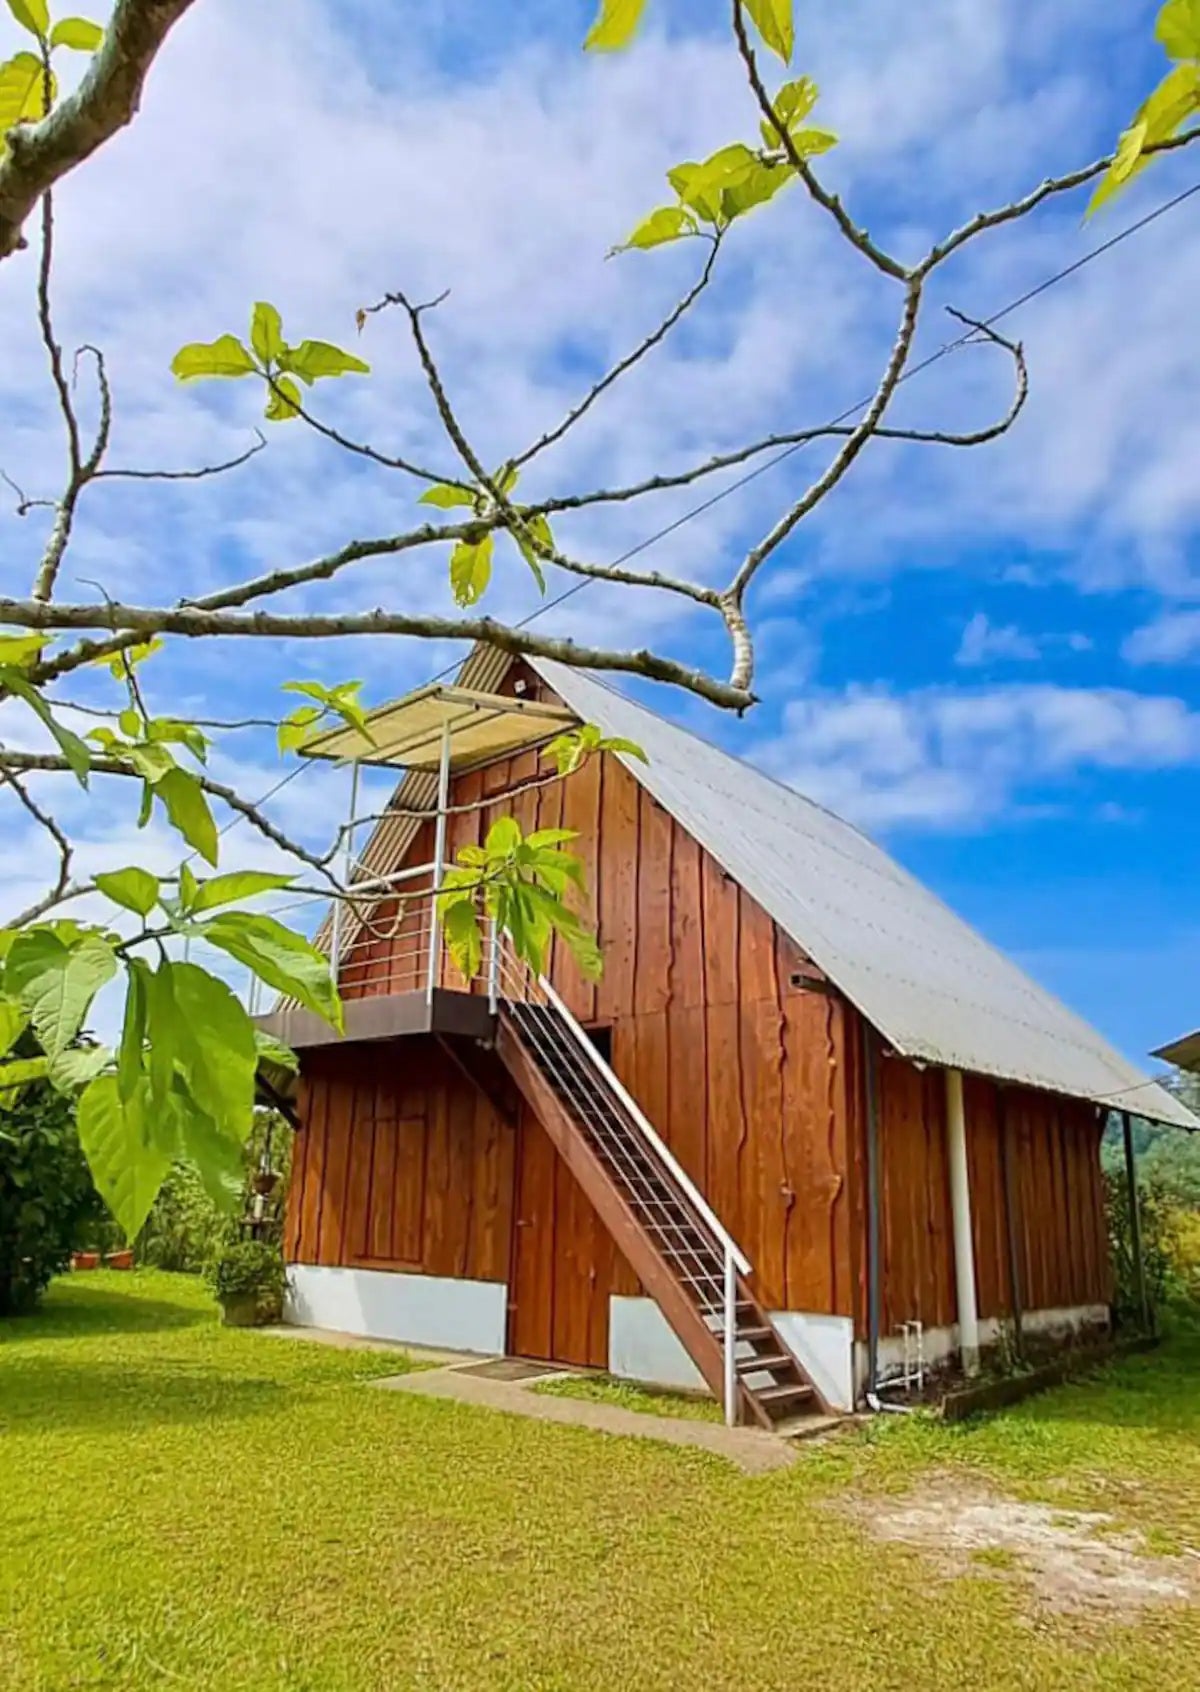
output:
<instances>
[{"instance_id":1,"label":"small beige awning above the cabin's upper balcony","mask_svg":"<svg viewBox=\"0 0 1200 1692\"><path fill-rule=\"evenodd\" d=\"M450 768L465 770L538 746L579 722L565 706L469 687L432 684L367 714L367 731L350 726L317 734L300 748L305 758L337 763L437 770L449 741Z\"/></svg>"}]
</instances>

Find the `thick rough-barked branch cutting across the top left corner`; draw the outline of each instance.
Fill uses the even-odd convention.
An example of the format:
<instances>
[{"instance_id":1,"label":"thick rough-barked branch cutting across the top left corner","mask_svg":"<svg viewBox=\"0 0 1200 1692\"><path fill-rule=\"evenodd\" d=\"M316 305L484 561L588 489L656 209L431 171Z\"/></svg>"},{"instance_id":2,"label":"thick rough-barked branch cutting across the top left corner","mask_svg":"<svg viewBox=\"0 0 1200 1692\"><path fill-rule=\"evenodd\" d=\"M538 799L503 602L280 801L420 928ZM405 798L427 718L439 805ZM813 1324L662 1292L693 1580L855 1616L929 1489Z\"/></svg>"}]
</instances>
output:
<instances>
[{"instance_id":1,"label":"thick rough-barked branch cutting across the top left corner","mask_svg":"<svg viewBox=\"0 0 1200 1692\"><path fill-rule=\"evenodd\" d=\"M117 0L74 93L41 124L8 132L0 157L0 261L25 244L22 227L42 195L134 118L149 68L191 3Z\"/></svg>"}]
</instances>

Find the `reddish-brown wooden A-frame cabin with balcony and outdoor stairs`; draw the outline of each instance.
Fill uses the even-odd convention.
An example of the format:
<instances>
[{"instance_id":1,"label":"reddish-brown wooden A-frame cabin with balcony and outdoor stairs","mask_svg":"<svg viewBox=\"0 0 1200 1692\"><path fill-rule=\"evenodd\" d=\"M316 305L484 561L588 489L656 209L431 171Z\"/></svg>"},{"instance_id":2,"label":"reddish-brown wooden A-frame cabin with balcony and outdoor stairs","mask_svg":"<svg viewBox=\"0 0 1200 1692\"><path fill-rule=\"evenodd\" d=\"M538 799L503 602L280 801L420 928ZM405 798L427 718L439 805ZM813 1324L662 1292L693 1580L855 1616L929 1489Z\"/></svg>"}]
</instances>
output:
<instances>
[{"instance_id":1,"label":"reddish-brown wooden A-frame cabin with balcony and outdoor stairs","mask_svg":"<svg viewBox=\"0 0 1200 1692\"><path fill-rule=\"evenodd\" d=\"M647 763L526 785L570 722ZM1107 1327L1105 1115L1193 1118L858 829L489 648L372 724L313 748L406 770L337 936L345 1037L269 1019L301 1054L291 1320L707 1384L765 1423ZM503 937L464 983L432 932L430 866L509 810L577 832L597 983L559 944L538 983Z\"/></svg>"}]
</instances>

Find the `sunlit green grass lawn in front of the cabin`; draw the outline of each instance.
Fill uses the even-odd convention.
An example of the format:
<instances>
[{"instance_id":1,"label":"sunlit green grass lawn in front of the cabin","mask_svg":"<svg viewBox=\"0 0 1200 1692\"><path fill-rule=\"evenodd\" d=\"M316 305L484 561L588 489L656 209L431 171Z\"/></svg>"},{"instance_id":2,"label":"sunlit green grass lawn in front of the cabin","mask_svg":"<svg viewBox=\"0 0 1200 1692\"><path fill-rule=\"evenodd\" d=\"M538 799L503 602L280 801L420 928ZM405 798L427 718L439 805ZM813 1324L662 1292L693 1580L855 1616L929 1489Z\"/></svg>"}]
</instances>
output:
<instances>
[{"instance_id":1,"label":"sunlit green grass lawn in front of the cabin","mask_svg":"<svg viewBox=\"0 0 1200 1692\"><path fill-rule=\"evenodd\" d=\"M1195 1609L1031 1619L1005 1557L948 1579L865 1521L983 1477L1200 1548L1195 1330L994 1421L873 1425L757 1479L364 1386L399 1365L223 1330L151 1272L59 1281L0 1325L0 1685L1197 1684Z\"/></svg>"}]
</instances>

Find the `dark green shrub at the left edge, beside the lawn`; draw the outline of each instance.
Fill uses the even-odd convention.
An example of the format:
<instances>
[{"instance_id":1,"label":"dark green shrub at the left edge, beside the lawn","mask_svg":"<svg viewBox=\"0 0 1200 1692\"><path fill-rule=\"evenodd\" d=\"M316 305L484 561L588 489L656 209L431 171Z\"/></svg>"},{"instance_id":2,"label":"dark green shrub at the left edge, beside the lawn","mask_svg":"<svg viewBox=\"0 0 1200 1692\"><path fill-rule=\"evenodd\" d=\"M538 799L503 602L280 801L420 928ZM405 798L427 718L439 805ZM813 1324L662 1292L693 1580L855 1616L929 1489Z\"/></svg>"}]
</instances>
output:
<instances>
[{"instance_id":1,"label":"dark green shrub at the left edge, beside the lawn","mask_svg":"<svg viewBox=\"0 0 1200 1692\"><path fill-rule=\"evenodd\" d=\"M32 1310L102 1218L71 1103L27 1086L0 1112L0 1316Z\"/></svg>"}]
</instances>

